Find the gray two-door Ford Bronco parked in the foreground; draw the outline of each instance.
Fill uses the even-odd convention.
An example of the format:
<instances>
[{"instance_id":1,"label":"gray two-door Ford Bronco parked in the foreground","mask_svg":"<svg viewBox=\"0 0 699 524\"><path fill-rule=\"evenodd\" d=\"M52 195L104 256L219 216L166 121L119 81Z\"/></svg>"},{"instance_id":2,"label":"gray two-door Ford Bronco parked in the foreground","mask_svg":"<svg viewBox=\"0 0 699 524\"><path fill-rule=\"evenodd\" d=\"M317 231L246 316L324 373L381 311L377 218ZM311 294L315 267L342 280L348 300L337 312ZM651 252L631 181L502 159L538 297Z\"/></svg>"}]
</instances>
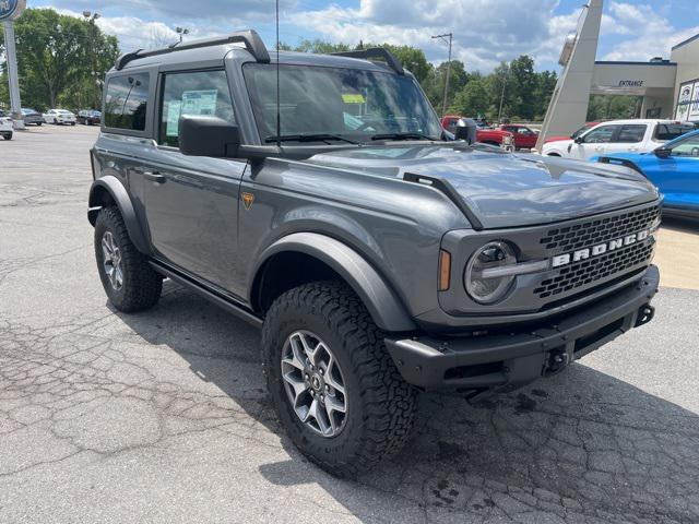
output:
<instances>
[{"instance_id":1,"label":"gray two-door Ford Bronco parked in the foreground","mask_svg":"<svg viewBox=\"0 0 699 524\"><path fill-rule=\"evenodd\" d=\"M241 32L125 55L105 86L109 301L145 310L169 278L260 326L283 426L335 475L399 451L419 391L512 390L653 317L644 178L454 140L382 49Z\"/></svg>"}]
</instances>

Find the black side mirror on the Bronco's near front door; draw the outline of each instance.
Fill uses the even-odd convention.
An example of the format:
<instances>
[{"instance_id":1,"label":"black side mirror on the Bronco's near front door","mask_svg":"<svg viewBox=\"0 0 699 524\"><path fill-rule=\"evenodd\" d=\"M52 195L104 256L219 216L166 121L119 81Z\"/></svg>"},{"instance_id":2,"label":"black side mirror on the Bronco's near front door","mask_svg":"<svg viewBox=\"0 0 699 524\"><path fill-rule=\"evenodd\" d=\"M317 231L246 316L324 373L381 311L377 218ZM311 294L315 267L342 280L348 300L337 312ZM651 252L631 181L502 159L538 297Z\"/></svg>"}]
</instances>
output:
<instances>
[{"instance_id":1,"label":"black side mirror on the Bronco's near front door","mask_svg":"<svg viewBox=\"0 0 699 524\"><path fill-rule=\"evenodd\" d=\"M179 151L187 156L236 158L240 130L218 117L185 116L179 119Z\"/></svg>"}]
</instances>

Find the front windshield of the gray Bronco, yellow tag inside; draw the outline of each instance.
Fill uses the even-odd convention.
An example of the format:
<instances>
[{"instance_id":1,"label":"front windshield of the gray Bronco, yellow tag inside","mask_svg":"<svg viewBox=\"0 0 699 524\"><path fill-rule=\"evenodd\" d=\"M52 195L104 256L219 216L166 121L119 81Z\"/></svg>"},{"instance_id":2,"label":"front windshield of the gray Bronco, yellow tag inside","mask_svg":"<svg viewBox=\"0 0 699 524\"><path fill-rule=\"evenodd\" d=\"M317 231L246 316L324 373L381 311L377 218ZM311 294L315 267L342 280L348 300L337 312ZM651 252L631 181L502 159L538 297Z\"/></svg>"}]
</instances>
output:
<instances>
[{"instance_id":1,"label":"front windshield of the gray Bronco, yellow tag inside","mask_svg":"<svg viewBox=\"0 0 699 524\"><path fill-rule=\"evenodd\" d=\"M276 136L276 67L248 63L244 71L261 140L273 142ZM441 139L437 115L407 75L281 66L280 93L282 136L323 134L368 142L390 140L386 135L404 133L416 139Z\"/></svg>"}]
</instances>

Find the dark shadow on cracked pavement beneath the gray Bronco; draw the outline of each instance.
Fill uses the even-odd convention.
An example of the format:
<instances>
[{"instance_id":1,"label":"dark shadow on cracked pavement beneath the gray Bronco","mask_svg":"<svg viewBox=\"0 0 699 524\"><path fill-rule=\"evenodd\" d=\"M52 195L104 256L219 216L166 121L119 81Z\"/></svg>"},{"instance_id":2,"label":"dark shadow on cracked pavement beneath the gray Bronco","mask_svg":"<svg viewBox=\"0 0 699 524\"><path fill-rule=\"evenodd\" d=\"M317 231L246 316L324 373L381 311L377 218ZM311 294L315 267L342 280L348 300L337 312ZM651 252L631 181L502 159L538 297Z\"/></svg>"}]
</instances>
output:
<instances>
[{"instance_id":1,"label":"dark shadow on cracked pavement beneath the gray Bronco","mask_svg":"<svg viewBox=\"0 0 699 524\"><path fill-rule=\"evenodd\" d=\"M317 484L363 522L699 520L699 416L584 365L476 405L424 394L406 449L339 480L283 434L253 327L170 283L147 315L120 317L279 436L289 460L259 466L270 483Z\"/></svg>"}]
</instances>

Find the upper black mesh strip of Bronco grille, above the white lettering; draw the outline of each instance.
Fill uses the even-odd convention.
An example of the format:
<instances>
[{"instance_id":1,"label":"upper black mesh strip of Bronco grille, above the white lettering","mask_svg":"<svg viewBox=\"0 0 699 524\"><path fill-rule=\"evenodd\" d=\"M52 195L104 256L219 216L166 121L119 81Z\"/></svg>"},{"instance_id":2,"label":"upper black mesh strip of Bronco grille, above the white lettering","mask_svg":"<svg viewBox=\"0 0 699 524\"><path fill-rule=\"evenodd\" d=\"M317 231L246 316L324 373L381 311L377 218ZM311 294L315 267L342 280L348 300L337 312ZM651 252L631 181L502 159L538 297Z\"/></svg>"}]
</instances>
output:
<instances>
[{"instance_id":1,"label":"upper black mesh strip of Bronco grille, above the white lettering","mask_svg":"<svg viewBox=\"0 0 699 524\"><path fill-rule=\"evenodd\" d=\"M574 226L550 229L540 243L555 250L555 254L566 253L648 229L659 217L660 206L655 205L606 218L589 219Z\"/></svg>"}]
</instances>

